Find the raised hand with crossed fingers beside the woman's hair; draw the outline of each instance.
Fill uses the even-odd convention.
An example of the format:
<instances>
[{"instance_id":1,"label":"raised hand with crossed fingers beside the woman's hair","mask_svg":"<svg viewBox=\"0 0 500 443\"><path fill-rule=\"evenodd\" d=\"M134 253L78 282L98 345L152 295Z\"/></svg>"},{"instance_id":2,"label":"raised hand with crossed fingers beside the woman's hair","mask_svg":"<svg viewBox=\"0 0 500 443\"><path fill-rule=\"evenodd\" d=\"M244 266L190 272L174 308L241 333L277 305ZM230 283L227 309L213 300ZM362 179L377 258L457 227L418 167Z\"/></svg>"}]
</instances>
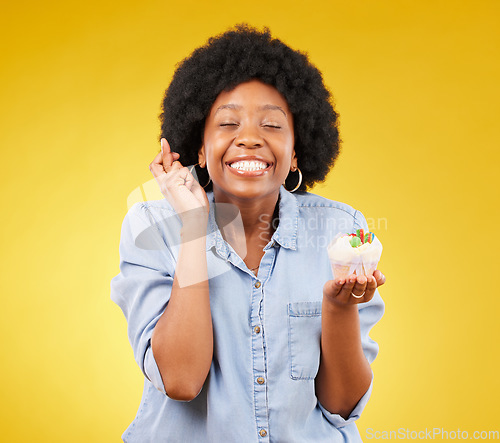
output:
<instances>
[{"instance_id":1,"label":"raised hand with crossed fingers beside the woman's hair","mask_svg":"<svg viewBox=\"0 0 500 443\"><path fill-rule=\"evenodd\" d=\"M180 155L170 151L167 139L161 139L161 152L149 165L161 193L184 222L208 219L209 204L207 194L192 176L189 169L178 161ZM205 217L206 218L205 218Z\"/></svg>"}]
</instances>

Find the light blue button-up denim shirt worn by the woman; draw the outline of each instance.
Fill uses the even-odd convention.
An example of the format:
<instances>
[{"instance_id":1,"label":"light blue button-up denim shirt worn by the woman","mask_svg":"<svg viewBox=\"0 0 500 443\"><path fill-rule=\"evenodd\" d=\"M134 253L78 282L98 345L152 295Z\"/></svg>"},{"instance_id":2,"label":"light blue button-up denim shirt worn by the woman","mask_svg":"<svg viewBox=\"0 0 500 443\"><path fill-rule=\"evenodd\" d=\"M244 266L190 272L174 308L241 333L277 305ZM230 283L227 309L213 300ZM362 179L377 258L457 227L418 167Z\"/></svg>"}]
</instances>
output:
<instances>
[{"instance_id":1,"label":"light blue button-up denim shirt worn by the woman","mask_svg":"<svg viewBox=\"0 0 500 443\"><path fill-rule=\"evenodd\" d=\"M323 285L333 279L327 245L339 232L367 229L350 206L282 186L279 225L264 248L258 275L228 244L215 221L212 192L206 254L214 351L203 388L192 401L169 398L151 336L170 297L180 221L166 199L135 203L120 240L120 273L111 298L123 310L135 360L144 373L139 410L125 442L361 442L356 424L372 390L344 419L316 398ZM224 228L222 228L224 229ZM382 317L378 293L358 304L363 351Z\"/></svg>"}]
</instances>

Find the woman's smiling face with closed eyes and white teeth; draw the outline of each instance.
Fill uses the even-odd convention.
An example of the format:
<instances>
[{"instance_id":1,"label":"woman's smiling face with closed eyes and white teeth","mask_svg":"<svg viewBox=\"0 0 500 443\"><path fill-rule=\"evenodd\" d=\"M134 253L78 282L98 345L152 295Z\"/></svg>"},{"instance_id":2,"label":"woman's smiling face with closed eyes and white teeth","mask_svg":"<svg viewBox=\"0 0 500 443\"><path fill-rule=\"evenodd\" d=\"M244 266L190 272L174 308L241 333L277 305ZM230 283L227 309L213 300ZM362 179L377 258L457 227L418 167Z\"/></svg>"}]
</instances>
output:
<instances>
[{"instance_id":1,"label":"woman's smiling face with closed eyes and white teeth","mask_svg":"<svg viewBox=\"0 0 500 443\"><path fill-rule=\"evenodd\" d=\"M297 167L293 117L285 98L258 80L223 91L205 121L198 161L219 202L274 196Z\"/></svg>"}]
</instances>

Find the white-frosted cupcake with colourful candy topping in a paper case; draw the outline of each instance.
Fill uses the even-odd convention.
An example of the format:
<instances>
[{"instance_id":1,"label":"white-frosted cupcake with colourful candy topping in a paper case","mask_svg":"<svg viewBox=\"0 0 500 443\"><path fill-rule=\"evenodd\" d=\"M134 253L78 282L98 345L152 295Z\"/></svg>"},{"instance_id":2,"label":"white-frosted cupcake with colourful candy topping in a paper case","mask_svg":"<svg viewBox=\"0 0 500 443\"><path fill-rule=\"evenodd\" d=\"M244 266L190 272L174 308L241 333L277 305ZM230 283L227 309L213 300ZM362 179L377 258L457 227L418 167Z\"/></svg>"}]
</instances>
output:
<instances>
[{"instance_id":1,"label":"white-frosted cupcake with colourful candy topping in a paper case","mask_svg":"<svg viewBox=\"0 0 500 443\"><path fill-rule=\"evenodd\" d=\"M334 278L350 274L373 275L382 255L382 243L373 232L358 229L355 234L339 234L328 245Z\"/></svg>"}]
</instances>

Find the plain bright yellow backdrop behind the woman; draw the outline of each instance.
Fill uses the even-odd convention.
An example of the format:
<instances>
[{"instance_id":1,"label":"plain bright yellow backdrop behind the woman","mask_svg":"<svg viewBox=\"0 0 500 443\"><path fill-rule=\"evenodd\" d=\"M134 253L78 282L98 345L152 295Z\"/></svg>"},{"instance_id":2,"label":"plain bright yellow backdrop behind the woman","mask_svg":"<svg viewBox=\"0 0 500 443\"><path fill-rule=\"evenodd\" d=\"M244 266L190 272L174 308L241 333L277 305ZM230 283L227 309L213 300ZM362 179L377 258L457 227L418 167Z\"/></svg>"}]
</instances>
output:
<instances>
[{"instance_id":1,"label":"plain bright yellow backdrop behind the woman","mask_svg":"<svg viewBox=\"0 0 500 443\"><path fill-rule=\"evenodd\" d=\"M500 2L9 2L0 18L1 440L113 442L142 375L109 298L175 64L235 23L306 50L343 152L313 192L371 220L386 314L358 422L500 430Z\"/></svg>"}]
</instances>

